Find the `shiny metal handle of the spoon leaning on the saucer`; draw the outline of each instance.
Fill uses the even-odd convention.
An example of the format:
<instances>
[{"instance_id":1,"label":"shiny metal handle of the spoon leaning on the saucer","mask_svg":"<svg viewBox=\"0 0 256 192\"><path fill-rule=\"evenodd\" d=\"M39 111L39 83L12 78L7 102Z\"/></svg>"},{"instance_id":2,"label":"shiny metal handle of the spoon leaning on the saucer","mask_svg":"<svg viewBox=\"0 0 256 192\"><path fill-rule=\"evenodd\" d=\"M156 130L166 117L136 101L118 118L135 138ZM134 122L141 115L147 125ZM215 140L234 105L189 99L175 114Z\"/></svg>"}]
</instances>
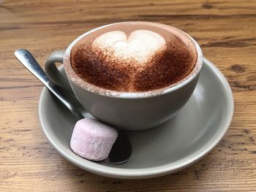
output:
<instances>
[{"instance_id":1,"label":"shiny metal handle of the spoon leaning on the saucer","mask_svg":"<svg viewBox=\"0 0 256 192\"><path fill-rule=\"evenodd\" d=\"M29 72L31 72L31 74L34 74L34 76L37 77L37 79L41 81L42 84L45 85L45 87L48 88L48 90L53 93L53 95L56 96L57 99L59 99L59 101L61 101L61 103L64 104L64 106L66 106L70 112L72 112L73 115L75 115L76 118L79 120L83 118L80 111L78 111L69 102L69 100L66 99L60 88L48 78L41 66L39 66L33 55L31 55L28 50L16 50L15 57L18 59L18 61L20 61L21 64L23 64L23 66L26 67L26 69L29 70Z\"/></svg>"}]
</instances>

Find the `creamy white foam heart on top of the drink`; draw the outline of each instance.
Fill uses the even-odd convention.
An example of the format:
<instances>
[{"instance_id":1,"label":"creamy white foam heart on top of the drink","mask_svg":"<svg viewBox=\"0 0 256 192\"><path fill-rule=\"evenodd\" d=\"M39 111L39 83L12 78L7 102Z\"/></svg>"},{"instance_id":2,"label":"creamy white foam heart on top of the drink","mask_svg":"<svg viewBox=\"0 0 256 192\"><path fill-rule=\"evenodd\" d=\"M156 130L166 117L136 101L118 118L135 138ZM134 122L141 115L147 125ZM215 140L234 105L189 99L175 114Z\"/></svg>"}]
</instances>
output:
<instances>
[{"instance_id":1,"label":"creamy white foam heart on top of the drink","mask_svg":"<svg viewBox=\"0 0 256 192\"><path fill-rule=\"evenodd\" d=\"M165 49L166 42L148 30L132 31L129 37L123 31L110 31L97 37L92 46L118 60L145 64L157 51Z\"/></svg>"}]
</instances>

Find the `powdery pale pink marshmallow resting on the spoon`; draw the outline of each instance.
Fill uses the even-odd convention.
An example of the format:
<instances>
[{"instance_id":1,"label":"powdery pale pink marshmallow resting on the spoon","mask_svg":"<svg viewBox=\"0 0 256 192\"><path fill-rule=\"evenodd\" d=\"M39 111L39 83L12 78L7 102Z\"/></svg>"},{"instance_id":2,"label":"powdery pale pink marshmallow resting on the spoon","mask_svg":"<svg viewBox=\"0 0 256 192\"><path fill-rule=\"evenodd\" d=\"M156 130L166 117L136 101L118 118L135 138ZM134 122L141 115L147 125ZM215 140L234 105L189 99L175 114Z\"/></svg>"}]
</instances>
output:
<instances>
[{"instance_id":1,"label":"powdery pale pink marshmallow resting on the spoon","mask_svg":"<svg viewBox=\"0 0 256 192\"><path fill-rule=\"evenodd\" d=\"M75 123L70 147L83 158L102 161L108 158L118 132L98 120L84 118Z\"/></svg>"}]
</instances>

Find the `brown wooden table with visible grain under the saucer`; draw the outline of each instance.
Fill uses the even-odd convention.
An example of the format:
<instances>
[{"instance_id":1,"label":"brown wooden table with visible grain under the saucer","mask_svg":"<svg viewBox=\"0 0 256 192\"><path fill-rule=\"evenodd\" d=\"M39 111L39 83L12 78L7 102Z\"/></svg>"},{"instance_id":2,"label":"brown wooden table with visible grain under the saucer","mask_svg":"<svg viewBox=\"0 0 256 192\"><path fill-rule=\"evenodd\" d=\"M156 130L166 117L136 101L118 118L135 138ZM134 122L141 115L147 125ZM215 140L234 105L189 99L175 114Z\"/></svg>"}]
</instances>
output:
<instances>
[{"instance_id":1,"label":"brown wooden table with visible grain under the saucer","mask_svg":"<svg viewBox=\"0 0 256 192\"><path fill-rule=\"evenodd\" d=\"M222 141L187 169L148 180L101 177L70 164L39 126L42 85L13 53L42 65L53 50L107 23L181 28L222 71L235 99ZM0 1L0 191L256 191L256 1Z\"/></svg>"}]
</instances>

